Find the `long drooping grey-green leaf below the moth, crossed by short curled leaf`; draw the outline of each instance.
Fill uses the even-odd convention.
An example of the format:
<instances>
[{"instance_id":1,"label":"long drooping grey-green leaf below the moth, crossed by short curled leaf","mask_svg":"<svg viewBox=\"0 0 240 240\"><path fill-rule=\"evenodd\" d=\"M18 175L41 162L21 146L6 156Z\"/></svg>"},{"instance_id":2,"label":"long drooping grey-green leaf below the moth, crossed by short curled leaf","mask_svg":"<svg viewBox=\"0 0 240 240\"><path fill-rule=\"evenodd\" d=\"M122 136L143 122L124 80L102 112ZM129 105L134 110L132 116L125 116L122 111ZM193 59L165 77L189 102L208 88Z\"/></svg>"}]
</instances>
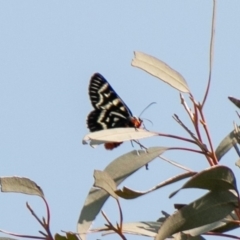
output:
<instances>
[{"instance_id":1,"label":"long drooping grey-green leaf below the moth, crossed by short curled leaf","mask_svg":"<svg viewBox=\"0 0 240 240\"><path fill-rule=\"evenodd\" d=\"M151 147L148 149L148 152L142 150L131 151L115 159L104 171L109 174L118 186L126 178L161 155L167 149L168 148L164 147ZM109 194L102 189L90 189L78 220L78 233L82 240L85 239L85 234L90 228L92 221L96 218L108 197Z\"/></svg>"}]
</instances>

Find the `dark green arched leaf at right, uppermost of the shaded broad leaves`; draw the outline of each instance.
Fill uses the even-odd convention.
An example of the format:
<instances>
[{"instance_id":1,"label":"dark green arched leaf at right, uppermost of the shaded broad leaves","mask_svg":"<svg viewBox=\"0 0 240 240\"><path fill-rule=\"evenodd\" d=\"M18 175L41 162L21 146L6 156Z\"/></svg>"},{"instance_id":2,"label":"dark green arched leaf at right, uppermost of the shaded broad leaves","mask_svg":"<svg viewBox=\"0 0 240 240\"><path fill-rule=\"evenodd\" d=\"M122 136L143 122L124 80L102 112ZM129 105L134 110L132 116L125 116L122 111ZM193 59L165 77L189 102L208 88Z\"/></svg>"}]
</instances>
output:
<instances>
[{"instance_id":1,"label":"dark green arched leaf at right, uppermost of the shaded broad leaves","mask_svg":"<svg viewBox=\"0 0 240 240\"><path fill-rule=\"evenodd\" d=\"M173 197L184 188L200 188L212 191L232 189L238 192L236 179L232 170L228 167L219 165L196 174L179 190L170 194L169 198Z\"/></svg>"}]
</instances>

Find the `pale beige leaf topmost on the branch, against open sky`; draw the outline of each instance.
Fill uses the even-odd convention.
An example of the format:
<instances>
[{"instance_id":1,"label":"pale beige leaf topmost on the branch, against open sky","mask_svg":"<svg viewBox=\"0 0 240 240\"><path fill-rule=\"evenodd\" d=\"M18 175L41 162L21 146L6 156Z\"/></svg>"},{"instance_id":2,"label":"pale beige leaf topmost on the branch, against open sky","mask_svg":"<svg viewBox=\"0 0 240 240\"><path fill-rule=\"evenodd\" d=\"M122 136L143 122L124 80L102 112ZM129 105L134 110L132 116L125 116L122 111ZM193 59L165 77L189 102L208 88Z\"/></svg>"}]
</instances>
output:
<instances>
[{"instance_id":1,"label":"pale beige leaf topmost on the branch, against open sky","mask_svg":"<svg viewBox=\"0 0 240 240\"><path fill-rule=\"evenodd\" d=\"M183 76L163 61L142 52L134 52L132 66L138 67L154 77L161 79L180 92L189 93L187 82Z\"/></svg>"}]
</instances>

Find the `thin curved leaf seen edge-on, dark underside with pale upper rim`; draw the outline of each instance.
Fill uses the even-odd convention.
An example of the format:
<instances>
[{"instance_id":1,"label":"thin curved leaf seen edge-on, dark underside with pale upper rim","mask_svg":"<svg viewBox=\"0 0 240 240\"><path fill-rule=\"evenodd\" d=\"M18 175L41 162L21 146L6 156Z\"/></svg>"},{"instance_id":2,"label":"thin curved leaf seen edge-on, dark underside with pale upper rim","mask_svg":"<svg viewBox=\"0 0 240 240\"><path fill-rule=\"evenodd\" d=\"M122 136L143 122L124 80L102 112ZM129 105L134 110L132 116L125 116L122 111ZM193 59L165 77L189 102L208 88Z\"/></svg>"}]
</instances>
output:
<instances>
[{"instance_id":1,"label":"thin curved leaf seen edge-on, dark underside with pale upper rim","mask_svg":"<svg viewBox=\"0 0 240 240\"><path fill-rule=\"evenodd\" d=\"M136 190L132 190L130 188L127 188L127 187L123 187L122 190L118 189L116 191L116 194L121 197L121 198L125 198L125 199L134 199L134 198L137 198L137 197L140 197L140 196L143 196L145 194L148 194L150 192L153 192L159 188L162 188L164 186L167 186L169 184L172 184L172 183L175 183L175 182L178 182L182 179L185 179L185 178L188 178L188 177L191 177L193 175L195 175L196 172L187 172L187 173L183 173L183 174L180 174L176 177L173 177L173 178L170 178L158 185L156 185L155 187L147 190L147 191L136 191Z\"/></svg>"}]
</instances>

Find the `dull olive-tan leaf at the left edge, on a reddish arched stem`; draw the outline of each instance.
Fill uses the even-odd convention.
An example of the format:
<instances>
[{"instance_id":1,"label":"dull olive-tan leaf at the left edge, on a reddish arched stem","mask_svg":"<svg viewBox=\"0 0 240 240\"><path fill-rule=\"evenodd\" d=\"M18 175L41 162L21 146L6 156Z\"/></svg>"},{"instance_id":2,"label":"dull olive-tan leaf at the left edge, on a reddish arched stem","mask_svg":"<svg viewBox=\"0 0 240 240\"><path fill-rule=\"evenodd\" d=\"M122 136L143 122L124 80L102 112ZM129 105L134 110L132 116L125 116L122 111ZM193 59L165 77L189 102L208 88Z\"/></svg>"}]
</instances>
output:
<instances>
[{"instance_id":1,"label":"dull olive-tan leaf at the left edge, on a reddish arched stem","mask_svg":"<svg viewBox=\"0 0 240 240\"><path fill-rule=\"evenodd\" d=\"M2 192L15 192L44 197L42 189L32 180L25 177L1 177Z\"/></svg>"}]
</instances>

